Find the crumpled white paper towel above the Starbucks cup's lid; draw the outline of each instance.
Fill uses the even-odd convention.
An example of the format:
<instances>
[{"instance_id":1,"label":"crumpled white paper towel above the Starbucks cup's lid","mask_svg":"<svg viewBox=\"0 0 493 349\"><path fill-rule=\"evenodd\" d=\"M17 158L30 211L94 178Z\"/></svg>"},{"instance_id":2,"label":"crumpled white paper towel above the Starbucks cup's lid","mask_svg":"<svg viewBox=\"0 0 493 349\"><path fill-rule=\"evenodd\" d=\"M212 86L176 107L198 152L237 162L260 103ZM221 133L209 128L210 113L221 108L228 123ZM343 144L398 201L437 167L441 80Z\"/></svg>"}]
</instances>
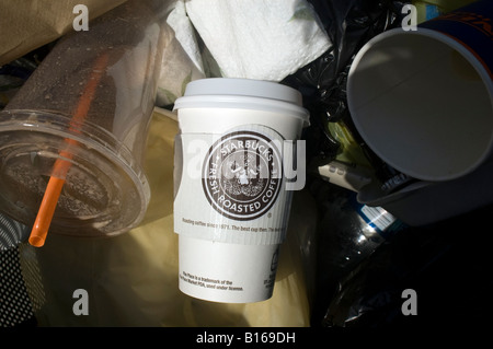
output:
<instances>
[{"instance_id":1,"label":"crumpled white paper towel above the Starbucks cup's lid","mask_svg":"<svg viewBox=\"0 0 493 349\"><path fill-rule=\"evenodd\" d=\"M225 78L280 81L331 45L305 0L191 0L185 9Z\"/></svg>"}]
</instances>

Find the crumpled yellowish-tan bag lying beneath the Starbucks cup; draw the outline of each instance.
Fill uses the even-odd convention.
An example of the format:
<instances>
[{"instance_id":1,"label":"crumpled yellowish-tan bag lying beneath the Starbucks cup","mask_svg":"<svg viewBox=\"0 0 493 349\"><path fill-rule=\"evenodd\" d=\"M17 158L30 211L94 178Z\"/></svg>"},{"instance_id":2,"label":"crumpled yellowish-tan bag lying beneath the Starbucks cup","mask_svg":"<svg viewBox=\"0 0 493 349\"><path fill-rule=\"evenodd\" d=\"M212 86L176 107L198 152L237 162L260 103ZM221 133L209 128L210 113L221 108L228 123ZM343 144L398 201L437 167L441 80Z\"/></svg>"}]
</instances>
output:
<instances>
[{"instance_id":1,"label":"crumpled yellowish-tan bag lying beneath the Starbucks cup","mask_svg":"<svg viewBox=\"0 0 493 349\"><path fill-rule=\"evenodd\" d=\"M144 222L108 239L48 235L23 245L24 279L39 326L309 326L316 209L295 193L272 299L214 303L179 290L173 232L173 140L177 123L154 113L145 168L151 201ZM312 218L312 219L310 219ZM311 246L311 247L310 247ZM88 292L88 315L74 315L74 291Z\"/></svg>"}]
</instances>

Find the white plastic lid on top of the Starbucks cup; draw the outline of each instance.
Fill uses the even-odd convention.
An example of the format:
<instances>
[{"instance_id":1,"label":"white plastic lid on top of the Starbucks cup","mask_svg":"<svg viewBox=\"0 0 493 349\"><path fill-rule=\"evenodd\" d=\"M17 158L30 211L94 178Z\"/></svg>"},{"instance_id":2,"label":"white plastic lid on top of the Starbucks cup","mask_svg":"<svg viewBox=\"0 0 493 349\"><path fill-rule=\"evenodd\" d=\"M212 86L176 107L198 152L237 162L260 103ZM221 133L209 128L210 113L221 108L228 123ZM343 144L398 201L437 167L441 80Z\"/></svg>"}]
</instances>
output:
<instances>
[{"instance_id":1,"label":"white plastic lid on top of the Starbucks cup","mask_svg":"<svg viewBox=\"0 0 493 349\"><path fill-rule=\"evenodd\" d=\"M301 93L293 88L262 80L210 78L190 82L175 109L197 107L256 108L288 113L309 125Z\"/></svg>"}]
</instances>

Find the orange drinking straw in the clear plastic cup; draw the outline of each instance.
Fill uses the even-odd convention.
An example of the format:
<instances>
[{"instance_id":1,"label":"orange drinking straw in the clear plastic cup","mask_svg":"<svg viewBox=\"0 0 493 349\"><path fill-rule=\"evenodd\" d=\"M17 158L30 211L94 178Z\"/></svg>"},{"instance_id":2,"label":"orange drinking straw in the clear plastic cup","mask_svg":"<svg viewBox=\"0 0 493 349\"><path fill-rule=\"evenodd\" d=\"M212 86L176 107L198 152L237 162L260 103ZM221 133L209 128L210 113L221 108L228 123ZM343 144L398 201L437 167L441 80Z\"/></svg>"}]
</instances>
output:
<instances>
[{"instance_id":1,"label":"orange drinking straw in the clear plastic cup","mask_svg":"<svg viewBox=\"0 0 493 349\"><path fill-rule=\"evenodd\" d=\"M98 57L94 62L89 81L85 84L77 109L70 120L70 129L73 131L77 131L73 129L73 126L76 124L81 124L88 115L98 84L106 69L107 60L108 56L107 54L104 54ZM66 139L66 142L69 144L77 144L77 141L73 139ZM61 151L60 159L57 159L55 162L53 175L49 177L36 220L34 221L33 230L31 231L30 244L33 246L41 247L45 244L46 235L48 234L48 229L51 224L51 219L58 203L58 198L60 197L67 172L71 165L67 159L71 160L72 154L68 151Z\"/></svg>"}]
</instances>

